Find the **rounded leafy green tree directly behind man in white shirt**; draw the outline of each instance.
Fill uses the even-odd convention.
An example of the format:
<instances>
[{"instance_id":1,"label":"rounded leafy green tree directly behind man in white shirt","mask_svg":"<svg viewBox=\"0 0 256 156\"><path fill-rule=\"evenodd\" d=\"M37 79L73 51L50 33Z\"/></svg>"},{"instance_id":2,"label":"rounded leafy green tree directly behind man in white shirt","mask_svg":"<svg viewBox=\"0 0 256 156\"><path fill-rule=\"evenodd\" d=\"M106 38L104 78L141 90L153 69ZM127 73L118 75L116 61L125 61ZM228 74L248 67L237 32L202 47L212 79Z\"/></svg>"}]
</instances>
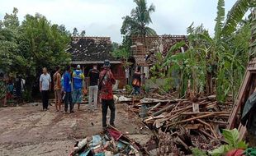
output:
<instances>
[{"instance_id":1,"label":"rounded leafy green tree directly behind man in white shirt","mask_svg":"<svg viewBox=\"0 0 256 156\"><path fill-rule=\"evenodd\" d=\"M26 15L21 25L21 37L19 39L19 55L26 59L26 62L17 64L19 71L26 73L26 84L28 94L31 94L32 85L38 85L38 77L42 67L54 71L57 65L69 64L70 57L65 53L70 36L65 33L64 27L51 25L45 16L36 14Z\"/></svg>"}]
</instances>

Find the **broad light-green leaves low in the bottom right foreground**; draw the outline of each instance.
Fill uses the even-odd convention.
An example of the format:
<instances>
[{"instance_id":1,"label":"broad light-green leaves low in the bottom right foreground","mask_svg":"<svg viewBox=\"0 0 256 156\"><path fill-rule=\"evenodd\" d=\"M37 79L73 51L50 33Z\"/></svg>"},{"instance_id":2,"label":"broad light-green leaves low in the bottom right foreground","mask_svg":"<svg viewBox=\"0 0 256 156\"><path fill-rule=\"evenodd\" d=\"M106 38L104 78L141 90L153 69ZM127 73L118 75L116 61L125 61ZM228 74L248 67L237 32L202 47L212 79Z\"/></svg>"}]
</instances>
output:
<instances>
[{"instance_id":1,"label":"broad light-green leaves low in the bottom right foreground","mask_svg":"<svg viewBox=\"0 0 256 156\"><path fill-rule=\"evenodd\" d=\"M223 130L222 135L225 138L227 145L220 145L219 148L214 149L209 152L213 156L220 156L232 149L247 149L248 145L244 141L239 140L239 131L237 129L233 130Z\"/></svg>"}]
</instances>

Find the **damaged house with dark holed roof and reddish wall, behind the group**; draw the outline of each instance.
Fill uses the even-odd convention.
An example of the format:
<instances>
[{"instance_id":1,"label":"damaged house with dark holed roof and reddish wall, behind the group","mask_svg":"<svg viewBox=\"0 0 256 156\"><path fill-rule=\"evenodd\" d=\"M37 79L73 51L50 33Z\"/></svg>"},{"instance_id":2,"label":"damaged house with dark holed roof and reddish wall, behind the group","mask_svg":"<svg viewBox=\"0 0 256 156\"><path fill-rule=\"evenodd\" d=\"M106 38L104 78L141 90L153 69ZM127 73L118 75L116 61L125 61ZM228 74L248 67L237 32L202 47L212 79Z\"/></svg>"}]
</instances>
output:
<instances>
[{"instance_id":1,"label":"damaged house with dark holed roof and reddish wall, behind the group","mask_svg":"<svg viewBox=\"0 0 256 156\"><path fill-rule=\"evenodd\" d=\"M111 56L110 37L73 37L68 52L72 56L72 67L79 64L85 76L88 76L93 64L97 64L100 71L104 60L110 60L111 71L117 81L116 88L125 85L125 69L121 60Z\"/></svg>"}]
</instances>

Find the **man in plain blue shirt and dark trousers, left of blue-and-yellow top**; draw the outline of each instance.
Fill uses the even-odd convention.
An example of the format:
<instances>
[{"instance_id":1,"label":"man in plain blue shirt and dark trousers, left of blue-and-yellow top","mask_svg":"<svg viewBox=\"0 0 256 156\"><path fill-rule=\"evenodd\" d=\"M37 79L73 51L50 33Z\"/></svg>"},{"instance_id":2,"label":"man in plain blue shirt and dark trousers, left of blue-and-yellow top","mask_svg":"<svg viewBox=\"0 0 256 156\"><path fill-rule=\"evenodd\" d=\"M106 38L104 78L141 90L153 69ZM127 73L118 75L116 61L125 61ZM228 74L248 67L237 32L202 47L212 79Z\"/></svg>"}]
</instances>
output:
<instances>
[{"instance_id":1,"label":"man in plain blue shirt and dark trousers, left of blue-and-yellow top","mask_svg":"<svg viewBox=\"0 0 256 156\"><path fill-rule=\"evenodd\" d=\"M67 67L64 73L64 105L65 105L65 112L68 112L68 108L70 109L70 113L73 113L73 101L71 95L71 68L70 66Z\"/></svg>"}]
</instances>

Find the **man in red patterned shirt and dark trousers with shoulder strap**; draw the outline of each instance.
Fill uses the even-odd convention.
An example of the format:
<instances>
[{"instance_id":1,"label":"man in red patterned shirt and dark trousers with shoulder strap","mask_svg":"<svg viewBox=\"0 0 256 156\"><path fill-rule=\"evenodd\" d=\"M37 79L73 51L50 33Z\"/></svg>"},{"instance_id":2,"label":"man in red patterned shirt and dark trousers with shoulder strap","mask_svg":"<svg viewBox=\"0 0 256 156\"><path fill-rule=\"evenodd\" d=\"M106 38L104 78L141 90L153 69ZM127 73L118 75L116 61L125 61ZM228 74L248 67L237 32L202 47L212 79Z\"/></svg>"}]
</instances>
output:
<instances>
[{"instance_id":1,"label":"man in red patterned shirt and dark trousers with shoulder strap","mask_svg":"<svg viewBox=\"0 0 256 156\"><path fill-rule=\"evenodd\" d=\"M102 127L105 129L107 127L107 108L111 110L110 125L115 126L115 113L116 107L113 99L112 85L116 84L116 79L114 78L110 70L109 60L104 61L104 70L100 73L100 84L99 89L102 99Z\"/></svg>"}]
</instances>

